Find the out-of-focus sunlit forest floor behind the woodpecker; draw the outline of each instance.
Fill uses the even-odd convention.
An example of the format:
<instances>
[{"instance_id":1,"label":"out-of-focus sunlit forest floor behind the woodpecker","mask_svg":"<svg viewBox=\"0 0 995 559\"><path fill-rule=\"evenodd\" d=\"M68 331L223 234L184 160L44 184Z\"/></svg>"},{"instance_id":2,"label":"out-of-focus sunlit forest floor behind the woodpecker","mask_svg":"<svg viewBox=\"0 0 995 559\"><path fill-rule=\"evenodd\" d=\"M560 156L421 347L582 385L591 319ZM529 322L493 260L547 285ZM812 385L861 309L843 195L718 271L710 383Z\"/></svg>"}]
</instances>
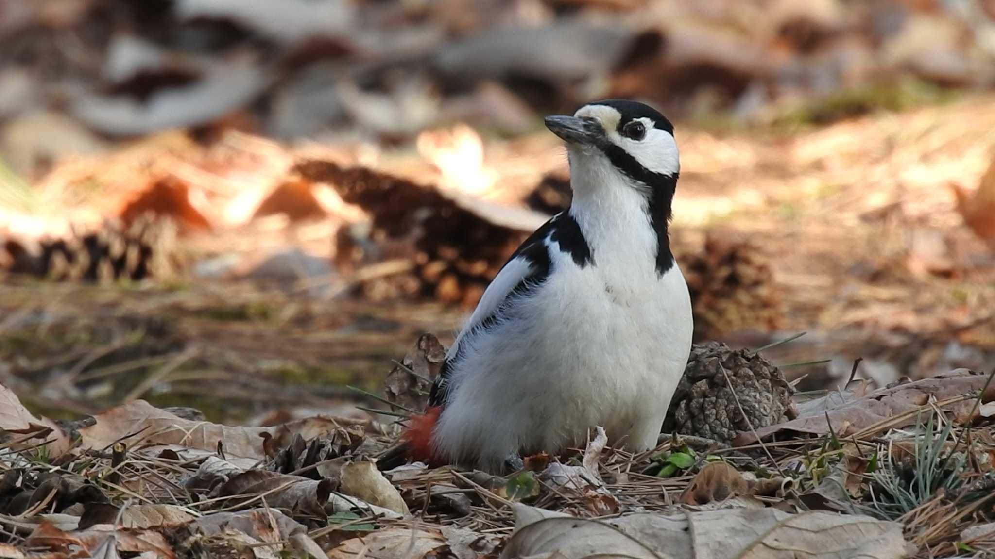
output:
<instances>
[{"instance_id":1,"label":"out-of-focus sunlit forest floor behind the woodpecker","mask_svg":"<svg viewBox=\"0 0 995 559\"><path fill-rule=\"evenodd\" d=\"M698 341L990 370L993 86L991 0L0 0L0 383L358 413L569 205L542 116L603 97L676 124Z\"/></svg>"}]
</instances>

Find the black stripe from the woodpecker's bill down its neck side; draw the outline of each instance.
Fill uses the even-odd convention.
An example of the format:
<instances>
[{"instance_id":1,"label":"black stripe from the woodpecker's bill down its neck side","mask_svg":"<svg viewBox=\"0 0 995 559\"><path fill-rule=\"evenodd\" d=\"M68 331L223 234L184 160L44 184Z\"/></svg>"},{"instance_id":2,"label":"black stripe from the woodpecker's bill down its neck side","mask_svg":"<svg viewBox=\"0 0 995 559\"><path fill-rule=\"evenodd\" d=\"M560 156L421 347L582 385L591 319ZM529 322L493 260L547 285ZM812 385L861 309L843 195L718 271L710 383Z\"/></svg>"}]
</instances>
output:
<instances>
[{"instance_id":1,"label":"black stripe from the woodpecker's bill down its neck side","mask_svg":"<svg viewBox=\"0 0 995 559\"><path fill-rule=\"evenodd\" d=\"M650 225L657 234L657 274L663 276L674 266L667 226L672 217L671 205L674 202L674 191L678 186L678 173L673 175L655 173L613 143L602 146L602 149L608 160L622 174L648 187Z\"/></svg>"}]
</instances>

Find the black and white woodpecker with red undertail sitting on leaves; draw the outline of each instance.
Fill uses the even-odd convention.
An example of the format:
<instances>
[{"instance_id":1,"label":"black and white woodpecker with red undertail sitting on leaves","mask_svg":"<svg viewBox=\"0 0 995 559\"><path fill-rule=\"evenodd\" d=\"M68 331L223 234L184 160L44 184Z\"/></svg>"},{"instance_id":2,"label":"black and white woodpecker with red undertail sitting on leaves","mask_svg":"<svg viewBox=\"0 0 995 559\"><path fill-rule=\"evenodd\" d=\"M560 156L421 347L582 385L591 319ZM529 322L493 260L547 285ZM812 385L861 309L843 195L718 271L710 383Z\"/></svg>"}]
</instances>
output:
<instances>
[{"instance_id":1,"label":"black and white woodpecker with red undertail sitting on leaves","mask_svg":"<svg viewBox=\"0 0 995 559\"><path fill-rule=\"evenodd\" d=\"M545 124L566 142L570 208L485 291L405 432L408 459L498 471L583 446L598 426L635 452L657 444L693 329L668 238L674 127L614 99Z\"/></svg>"}]
</instances>

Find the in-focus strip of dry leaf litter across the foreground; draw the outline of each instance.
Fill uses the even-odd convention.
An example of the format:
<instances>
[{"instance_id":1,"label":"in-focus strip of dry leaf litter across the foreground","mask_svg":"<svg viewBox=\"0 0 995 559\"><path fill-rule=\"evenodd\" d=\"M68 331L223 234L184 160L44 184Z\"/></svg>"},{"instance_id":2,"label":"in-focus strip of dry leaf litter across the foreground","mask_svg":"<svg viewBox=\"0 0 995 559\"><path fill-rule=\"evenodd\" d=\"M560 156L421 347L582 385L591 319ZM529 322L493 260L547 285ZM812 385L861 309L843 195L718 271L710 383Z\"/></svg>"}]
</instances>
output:
<instances>
[{"instance_id":1,"label":"in-focus strip of dry leaf litter across the foreground","mask_svg":"<svg viewBox=\"0 0 995 559\"><path fill-rule=\"evenodd\" d=\"M257 440L242 444L250 441L244 432L226 438L224 430L236 428L136 401L81 429L68 455L54 457L60 466L47 465L39 448L8 451L0 506L25 549L93 556L109 547L165 557L243 548L257 557L317 548L329 557L384 558L952 553L960 532L992 510L993 424L977 413L995 396L990 380L954 371L797 401L801 415L772 426L778 439L765 452L757 432L731 447L661 436L653 453L634 456L608 447L597 430L575 454L528 457L526 469L507 477L419 465L381 472L368 459L392 444L393 430L375 420L343 418L352 438L346 445L329 443L344 429L329 417L257 428ZM881 408L882 401L896 404ZM30 423L22 408L6 410L17 418L12 427ZM831 422L822 430L798 427L799 420L818 425L817 416ZM109 437L113 422L117 440ZM307 428L313 425L321 429ZM197 429L215 435L189 436ZM276 438L281 432L294 435ZM267 447L276 452L264 450L259 433L270 435ZM229 462L236 458L243 461ZM682 473L644 473L658 460ZM335 466L318 467L326 465ZM922 473L910 478L909 471ZM45 519L53 513L77 518L75 525L64 518L67 528L56 527ZM982 535L970 535L973 545L985 545Z\"/></svg>"}]
</instances>

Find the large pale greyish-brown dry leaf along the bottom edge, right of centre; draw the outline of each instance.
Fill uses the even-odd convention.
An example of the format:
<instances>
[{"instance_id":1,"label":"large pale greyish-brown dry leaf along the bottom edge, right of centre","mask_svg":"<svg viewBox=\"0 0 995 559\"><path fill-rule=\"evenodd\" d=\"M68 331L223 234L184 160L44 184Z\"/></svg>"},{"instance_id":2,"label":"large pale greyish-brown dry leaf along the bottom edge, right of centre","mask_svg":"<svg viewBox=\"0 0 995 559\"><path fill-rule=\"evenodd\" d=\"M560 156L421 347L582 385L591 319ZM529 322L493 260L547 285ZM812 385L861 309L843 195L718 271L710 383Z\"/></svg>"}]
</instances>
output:
<instances>
[{"instance_id":1,"label":"large pale greyish-brown dry leaf along the bottom edge, right of centre","mask_svg":"<svg viewBox=\"0 0 995 559\"><path fill-rule=\"evenodd\" d=\"M641 513L608 521L514 505L515 532L501 559L624 556L638 559L767 559L804 555L844 559L905 555L901 525L869 516L775 508ZM790 550L785 554L786 550Z\"/></svg>"}]
</instances>

